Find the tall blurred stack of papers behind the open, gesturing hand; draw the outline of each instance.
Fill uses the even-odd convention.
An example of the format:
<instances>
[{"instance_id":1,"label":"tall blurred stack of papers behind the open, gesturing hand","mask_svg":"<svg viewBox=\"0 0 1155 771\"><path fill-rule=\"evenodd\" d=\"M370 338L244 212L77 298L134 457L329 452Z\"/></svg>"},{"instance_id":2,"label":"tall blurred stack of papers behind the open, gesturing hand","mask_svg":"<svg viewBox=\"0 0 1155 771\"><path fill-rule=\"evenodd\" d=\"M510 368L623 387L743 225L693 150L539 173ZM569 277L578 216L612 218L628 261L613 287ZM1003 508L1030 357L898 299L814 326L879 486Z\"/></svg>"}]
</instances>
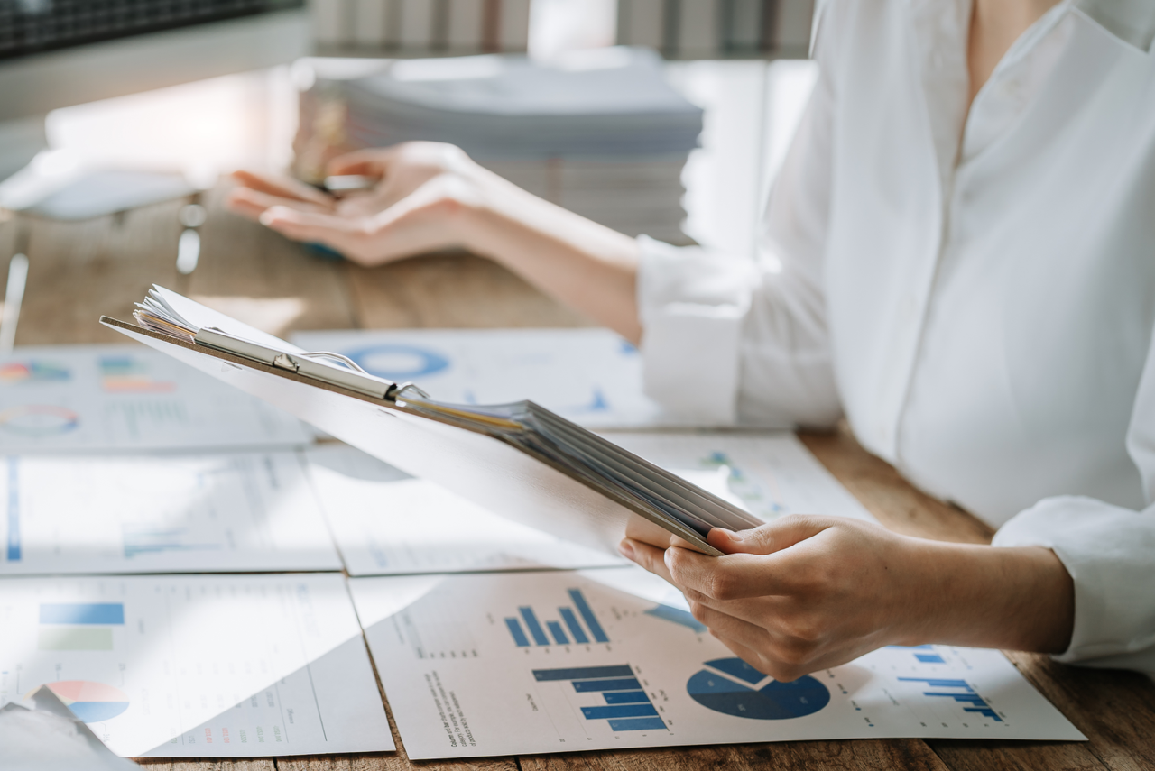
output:
<instances>
[{"instance_id":1,"label":"tall blurred stack of papers behind the open, gesturing hand","mask_svg":"<svg viewBox=\"0 0 1155 771\"><path fill-rule=\"evenodd\" d=\"M698 147L702 111L646 48L568 54L543 65L520 55L393 61L370 75L326 77L316 65L303 99L298 172L321 173L326 154L411 140L449 142L515 185L629 235L686 242L681 169ZM329 100L319 108L316 99ZM333 136L333 100L344 127ZM326 132L328 136L326 137Z\"/></svg>"}]
</instances>

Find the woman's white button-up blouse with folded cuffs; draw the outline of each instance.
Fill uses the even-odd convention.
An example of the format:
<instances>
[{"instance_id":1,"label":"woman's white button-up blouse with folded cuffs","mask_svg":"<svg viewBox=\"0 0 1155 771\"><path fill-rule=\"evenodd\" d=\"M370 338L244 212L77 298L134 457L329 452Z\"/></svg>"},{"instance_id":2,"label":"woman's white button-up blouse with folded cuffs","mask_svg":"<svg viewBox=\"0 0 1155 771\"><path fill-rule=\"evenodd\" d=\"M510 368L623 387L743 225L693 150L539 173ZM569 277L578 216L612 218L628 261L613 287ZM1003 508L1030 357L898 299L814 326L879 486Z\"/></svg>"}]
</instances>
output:
<instances>
[{"instance_id":1,"label":"woman's white button-up blouse with folded cuffs","mask_svg":"<svg viewBox=\"0 0 1155 771\"><path fill-rule=\"evenodd\" d=\"M830 0L757 261L640 239L647 388L829 426L1041 545L1155 671L1155 2L1066 0L967 113L969 0Z\"/></svg>"}]
</instances>

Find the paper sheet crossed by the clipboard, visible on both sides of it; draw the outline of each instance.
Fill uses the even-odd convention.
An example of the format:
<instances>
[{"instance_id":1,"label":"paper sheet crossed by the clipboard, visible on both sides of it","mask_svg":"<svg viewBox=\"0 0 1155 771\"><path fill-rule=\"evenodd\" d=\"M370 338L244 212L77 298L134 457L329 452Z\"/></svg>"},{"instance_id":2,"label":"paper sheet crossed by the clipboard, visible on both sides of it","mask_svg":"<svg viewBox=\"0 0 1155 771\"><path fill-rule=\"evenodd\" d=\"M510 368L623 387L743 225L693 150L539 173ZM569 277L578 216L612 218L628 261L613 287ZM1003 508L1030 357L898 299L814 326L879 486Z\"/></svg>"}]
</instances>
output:
<instances>
[{"instance_id":1,"label":"paper sheet crossed by the clipboard, visible on both sides of it","mask_svg":"<svg viewBox=\"0 0 1155 771\"><path fill-rule=\"evenodd\" d=\"M793 434L614 434L613 441L769 522L790 514L871 519ZM351 576L625 564L520 525L344 444L308 470Z\"/></svg>"}]
</instances>

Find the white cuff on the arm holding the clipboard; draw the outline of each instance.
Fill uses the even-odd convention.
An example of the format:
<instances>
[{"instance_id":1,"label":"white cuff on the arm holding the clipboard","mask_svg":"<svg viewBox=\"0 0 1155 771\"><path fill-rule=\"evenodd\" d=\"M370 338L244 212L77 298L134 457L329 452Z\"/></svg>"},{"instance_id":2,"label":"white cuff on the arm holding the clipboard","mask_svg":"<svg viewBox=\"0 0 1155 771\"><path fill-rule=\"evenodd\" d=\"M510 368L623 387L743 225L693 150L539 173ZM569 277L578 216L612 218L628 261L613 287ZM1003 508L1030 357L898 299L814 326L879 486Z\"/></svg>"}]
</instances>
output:
<instances>
[{"instance_id":1,"label":"white cuff on the arm holding the clipboard","mask_svg":"<svg viewBox=\"0 0 1155 771\"><path fill-rule=\"evenodd\" d=\"M1074 629L1059 661L1155 669L1155 510L1045 499L1005 524L993 545L1050 548L1071 574Z\"/></svg>"}]
</instances>

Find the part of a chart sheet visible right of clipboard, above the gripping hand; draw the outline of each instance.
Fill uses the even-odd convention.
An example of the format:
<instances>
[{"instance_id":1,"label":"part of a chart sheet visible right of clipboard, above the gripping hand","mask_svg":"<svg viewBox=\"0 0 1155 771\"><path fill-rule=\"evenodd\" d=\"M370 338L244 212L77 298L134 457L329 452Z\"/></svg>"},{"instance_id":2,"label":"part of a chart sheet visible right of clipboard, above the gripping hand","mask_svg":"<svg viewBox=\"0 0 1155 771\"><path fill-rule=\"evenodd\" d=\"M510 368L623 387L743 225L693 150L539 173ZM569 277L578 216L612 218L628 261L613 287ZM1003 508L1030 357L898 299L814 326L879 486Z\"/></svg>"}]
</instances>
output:
<instances>
[{"instance_id":1,"label":"part of a chart sheet visible right of clipboard, above the gripping hand","mask_svg":"<svg viewBox=\"0 0 1155 771\"><path fill-rule=\"evenodd\" d=\"M606 439L650 463L742 507L763 522L788 514L825 514L873 522L789 432L608 433Z\"/></svg>"}]
</instances>

